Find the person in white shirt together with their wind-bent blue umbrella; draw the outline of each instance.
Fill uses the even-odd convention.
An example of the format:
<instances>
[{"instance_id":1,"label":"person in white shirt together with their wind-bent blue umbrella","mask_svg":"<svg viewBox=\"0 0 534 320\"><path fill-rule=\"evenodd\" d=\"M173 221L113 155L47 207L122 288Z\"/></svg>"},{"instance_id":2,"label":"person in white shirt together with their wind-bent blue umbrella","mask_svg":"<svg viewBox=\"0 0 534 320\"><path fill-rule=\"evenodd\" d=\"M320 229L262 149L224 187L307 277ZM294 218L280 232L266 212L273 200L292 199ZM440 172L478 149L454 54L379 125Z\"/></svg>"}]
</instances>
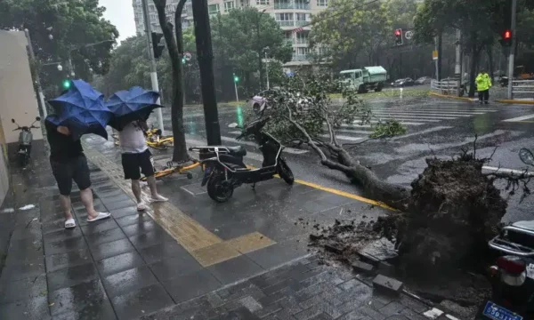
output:
<instances>
[{"instance_id":1,"label":"person in white shirt together with their wind-bent blue umbrella","mask_svg":"<svg viewBox=\"0 0 534 320\"><path fill-rule=\"evenodd\" d=\"M106 102L106 106L114 115L109 125L118 131L125 180L132 181L132 192L137 200L137 210L140 212L147 209L141 196L141 173L149 183L150 202L168 201L165 196L158 194L156 178L154 177L154 160L147 146L144 133L148 130L146 121L150 113L155 108L161 108L156 104L158 98L158 92L149 92L141 87L133 87L128 91L116 92Z\"/></svg>"}]
</instances>

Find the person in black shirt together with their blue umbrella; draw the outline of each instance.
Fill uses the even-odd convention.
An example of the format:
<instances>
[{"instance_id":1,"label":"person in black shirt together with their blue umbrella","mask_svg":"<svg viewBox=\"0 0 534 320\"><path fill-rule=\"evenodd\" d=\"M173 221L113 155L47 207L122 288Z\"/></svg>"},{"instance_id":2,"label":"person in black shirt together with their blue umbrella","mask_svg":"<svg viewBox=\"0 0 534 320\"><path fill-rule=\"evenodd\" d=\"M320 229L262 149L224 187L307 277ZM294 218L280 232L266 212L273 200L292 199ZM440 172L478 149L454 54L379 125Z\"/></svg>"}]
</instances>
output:
<instances>
[{"instance_id":1,"label":"person in black shirt together with their blue umbrella","mask_svg":"<svg viewBox=\"0 0 534 320\"><path fill-rule=\"evenodd\" d=\"M80 189L82 204L87 211L87 221L107 219L108 212L97 212L93 205L90 171L80 137L85 133L103 134L109 110L103 106L103 98L83 81L73 81L73 88L64 92L50 104L60 115L50 115L44 120L48 143L50 144L50 164L53 176L60 189L61 209L65 214L65 228L76 228L72 217L70 192L74 180ZM92 115L92 116L91 116ZM105 134L107 136L107 133ZM107 138L107 137L106 137Z\"/></svg>"}]
</instances>

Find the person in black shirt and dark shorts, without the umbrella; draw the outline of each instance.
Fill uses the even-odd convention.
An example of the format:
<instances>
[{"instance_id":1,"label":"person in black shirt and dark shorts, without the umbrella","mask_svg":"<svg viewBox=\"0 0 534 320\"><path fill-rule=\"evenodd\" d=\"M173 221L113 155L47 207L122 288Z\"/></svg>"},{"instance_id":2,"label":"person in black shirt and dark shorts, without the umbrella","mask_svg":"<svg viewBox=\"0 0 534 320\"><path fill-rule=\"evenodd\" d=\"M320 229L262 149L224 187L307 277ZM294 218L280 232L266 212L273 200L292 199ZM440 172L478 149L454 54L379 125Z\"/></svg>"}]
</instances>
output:
<instances>
[{"instance_id":1,"label":"person in black shirt and dark shorts, without the umbrella","mask_svg":"<svg viewBox=\"0 0 534 320\"><path fill-rule=\"evenodd\" d=\"M44 120L46 136L50 144L50 164L53 176L60 189L61 209L65 213L65 228L75 228L76 221L72 217L70 191L72 180L80 189L82 204L87 211L87 221L93 222L109 218L107 212L96 212L93 206L93 191L87 159L80 140L70 137L69 128L55 125L51 121L53 115Z\"/></svg>"}]
</instances>

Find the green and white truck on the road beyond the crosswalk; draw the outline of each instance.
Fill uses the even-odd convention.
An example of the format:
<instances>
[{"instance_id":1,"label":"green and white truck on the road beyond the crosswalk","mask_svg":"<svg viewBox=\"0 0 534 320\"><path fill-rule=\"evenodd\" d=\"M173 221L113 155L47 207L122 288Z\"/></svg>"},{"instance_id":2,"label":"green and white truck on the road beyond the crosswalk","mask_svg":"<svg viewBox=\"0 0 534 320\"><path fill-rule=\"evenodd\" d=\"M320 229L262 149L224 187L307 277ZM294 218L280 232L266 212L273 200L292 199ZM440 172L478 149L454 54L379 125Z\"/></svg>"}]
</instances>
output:
<instances>
[{"instance_id":1,"label":"green and white truck on the road beyond the crosswalk","mask_svg":"<svg viewBox=\"0 0 534 320\"><path fill-rule=\"evenodd\" d=\"M380 66L343 70L340 76L341 84L358 90L359 93L367 93L369 90L381 92L387 81L387 71Z\"/></svg>"}]
</instances>

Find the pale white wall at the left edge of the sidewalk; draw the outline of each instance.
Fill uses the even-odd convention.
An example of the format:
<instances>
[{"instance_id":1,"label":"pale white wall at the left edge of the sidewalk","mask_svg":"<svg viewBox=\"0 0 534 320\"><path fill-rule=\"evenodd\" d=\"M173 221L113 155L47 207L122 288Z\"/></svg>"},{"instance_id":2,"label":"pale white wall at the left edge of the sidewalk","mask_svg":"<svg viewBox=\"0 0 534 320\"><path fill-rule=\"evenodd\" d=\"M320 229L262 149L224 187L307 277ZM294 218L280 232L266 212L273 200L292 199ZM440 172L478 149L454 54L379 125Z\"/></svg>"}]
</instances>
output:
<instances>
[{"instance_id":1,"label":"pale white wall at the left edge of the sidewalk","mask_svg":"<svg viewBox=\"0 0 534 320\"><path fill-rule=\"evenodd\" d=\"M12 131L12 118L20 125L29 125L39 116L27 44L24 32L0 30L0 120L7 143L19 140L19 132ZM32 132L34 140L43 139L40 130Z\"/></svg>"}]
</instances>

